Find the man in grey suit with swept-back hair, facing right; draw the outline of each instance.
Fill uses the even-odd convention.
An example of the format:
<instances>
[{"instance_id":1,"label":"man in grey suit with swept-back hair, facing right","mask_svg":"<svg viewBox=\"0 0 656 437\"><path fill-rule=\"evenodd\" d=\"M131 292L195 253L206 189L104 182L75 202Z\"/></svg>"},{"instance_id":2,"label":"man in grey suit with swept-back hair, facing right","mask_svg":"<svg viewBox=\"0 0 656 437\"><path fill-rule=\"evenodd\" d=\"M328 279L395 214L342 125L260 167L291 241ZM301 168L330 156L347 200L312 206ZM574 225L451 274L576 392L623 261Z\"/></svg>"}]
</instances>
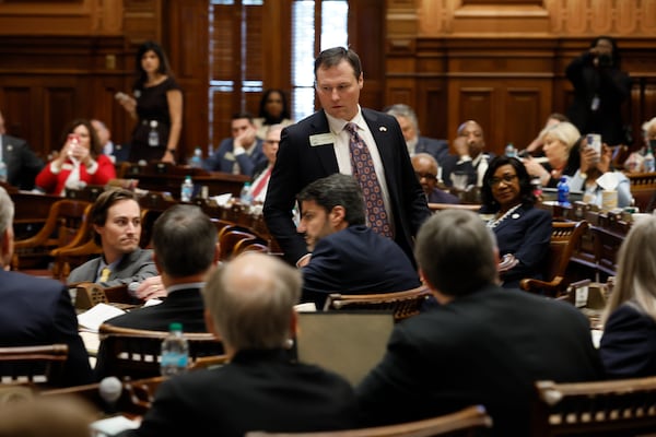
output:
<instances>
[{"instance_id":1,"label":"man in grey suit with swept-back hair, facing right","mask_svg":"<svg viewBox=\"0 0 656 437\"><path fill-rule=\"evenodd\" d=\"M73 269L68 277L69 284L97 282L104 287L112 287L140 283L157 274L152 250L139 247L141 209L132 191L104 191L89 215L93 238L103 248L103 255Z\"/></svg>"}]
</instances>

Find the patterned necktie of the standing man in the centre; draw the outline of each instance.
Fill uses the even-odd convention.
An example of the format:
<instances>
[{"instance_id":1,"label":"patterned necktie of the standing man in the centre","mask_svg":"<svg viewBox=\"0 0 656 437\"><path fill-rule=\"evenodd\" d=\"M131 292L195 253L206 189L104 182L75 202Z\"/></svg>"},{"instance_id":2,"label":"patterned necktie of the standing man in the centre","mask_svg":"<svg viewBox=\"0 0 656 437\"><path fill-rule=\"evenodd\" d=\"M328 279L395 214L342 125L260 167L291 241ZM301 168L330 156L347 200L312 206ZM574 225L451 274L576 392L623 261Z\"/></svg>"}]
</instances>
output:
<instances>
[{"instance_id":1,"label":"patterned necktie of the standing man in the centre","mask_svg":"<svg viewBox=\"0 0 656 437\"><path fill-rule=\"evenodd\" d=\"M383 190L380 189L380 184L378 184L368 147L358 134L358 125L350 122L347 123L344 129L351 134L349 140L351 166L353 168L353 176L360 182L360 187L362 187L367 222L375 233L393 238L391 226L389 225L387 211L383 202Z\"/></svg>"}]
</instances>

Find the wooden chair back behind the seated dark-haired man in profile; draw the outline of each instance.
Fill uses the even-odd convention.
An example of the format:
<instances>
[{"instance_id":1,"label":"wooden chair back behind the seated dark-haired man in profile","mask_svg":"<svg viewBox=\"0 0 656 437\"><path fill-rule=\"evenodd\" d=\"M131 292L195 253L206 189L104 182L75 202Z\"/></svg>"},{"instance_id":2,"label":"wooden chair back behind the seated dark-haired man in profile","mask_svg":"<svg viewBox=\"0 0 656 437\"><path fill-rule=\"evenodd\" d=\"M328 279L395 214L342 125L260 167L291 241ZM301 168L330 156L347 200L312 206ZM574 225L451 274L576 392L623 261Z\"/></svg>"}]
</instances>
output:
<instances>
[{"instance_id":1,"label":"wooden chair back behind the seated dark-haired man in profile","mask_svg":"<svg viewBox=\"0 0 656 437\"><path fill-rule=\"evenodd\" d=\"M396 293L339 294L328 295L325 311L348 310L391 310L396 321L419 314L421 305L431 296L425 286Z\"/></svg>"}]
</instances>

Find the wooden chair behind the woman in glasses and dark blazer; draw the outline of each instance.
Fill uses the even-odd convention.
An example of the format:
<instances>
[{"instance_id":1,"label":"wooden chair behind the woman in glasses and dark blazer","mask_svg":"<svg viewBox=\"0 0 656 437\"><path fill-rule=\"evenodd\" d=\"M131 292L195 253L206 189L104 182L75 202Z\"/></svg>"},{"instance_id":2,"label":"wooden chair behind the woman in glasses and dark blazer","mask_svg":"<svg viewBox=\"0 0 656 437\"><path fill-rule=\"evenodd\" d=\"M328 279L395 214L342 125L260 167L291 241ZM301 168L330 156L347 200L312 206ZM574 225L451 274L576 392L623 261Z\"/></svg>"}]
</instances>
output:
<instances>
[{"instance_id":1,"label":"wooden chair behind the woman in glasses and dark blazer","mask_svg":"<svg viewBox=\"0 0 656 437\"><path fill-rule=\"evenodd\" d=\"M524 279L519 282L522 290L531 293L542 291L552 297L563 294L569 285L565 281L565 273L570 264L570 259L579 247L581 238L587 232L588 227L589 224L585 220L579 222L553 222L544 270L544 277L549 277L550 280Z\"/></svg>"}]
</instances>

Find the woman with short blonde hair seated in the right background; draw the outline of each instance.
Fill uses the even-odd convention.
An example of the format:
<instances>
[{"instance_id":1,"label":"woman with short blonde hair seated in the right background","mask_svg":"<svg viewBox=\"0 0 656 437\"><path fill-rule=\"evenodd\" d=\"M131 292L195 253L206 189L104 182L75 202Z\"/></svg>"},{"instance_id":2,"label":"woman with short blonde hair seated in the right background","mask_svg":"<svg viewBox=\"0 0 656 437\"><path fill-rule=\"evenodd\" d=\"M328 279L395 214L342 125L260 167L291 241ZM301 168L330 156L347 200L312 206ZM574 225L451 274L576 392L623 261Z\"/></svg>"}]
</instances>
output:
<instances>
[{"instance_id":1,"label":"woman with short blonde hair seated in the right background","mask_svg":"<svg viewBox=\"0 0 656 437\"><path fill-rule=\"evenodd\" d=\"M530 176L539 177L542 187L555 188L562 176L573 176L578 169L581 133L574 125L561 121L540 133L547 162L526 157L524 165Z\"/></svg>"}]
</instances>

